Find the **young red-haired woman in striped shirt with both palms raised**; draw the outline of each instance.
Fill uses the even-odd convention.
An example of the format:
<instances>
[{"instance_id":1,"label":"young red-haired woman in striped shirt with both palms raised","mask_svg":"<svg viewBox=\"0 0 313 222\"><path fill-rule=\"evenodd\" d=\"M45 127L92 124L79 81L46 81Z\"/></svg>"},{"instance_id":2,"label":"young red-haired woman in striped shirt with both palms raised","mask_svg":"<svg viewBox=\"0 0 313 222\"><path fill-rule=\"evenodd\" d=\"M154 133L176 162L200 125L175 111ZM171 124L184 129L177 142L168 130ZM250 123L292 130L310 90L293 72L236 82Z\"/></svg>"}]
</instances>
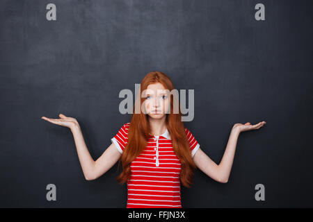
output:
<instances>
[{"instance_id":1,"label":"young red-haired woman in striped shirt with both palms raised","mask_svg":"<svg viewBox=\"0 0 313 222\"><path fill-rule=\"evenodd\" d=\"M127 182L129 207L182 207L180 185L190 187L196 167L218 182L227 182L239 134L255 130L256 125L236 123L220 164L201 149L190 130L184 127L172 81L161 71L148 73L141 81L134 112L111 138L112 144L96 160L90 156L77 119L59 114L61 119L42 117L51 123L70 128L86 180L95 180L120 160L122 173L117 180ZM136 112L136 104L140 112Z\"/></svg>"}]
</instances>

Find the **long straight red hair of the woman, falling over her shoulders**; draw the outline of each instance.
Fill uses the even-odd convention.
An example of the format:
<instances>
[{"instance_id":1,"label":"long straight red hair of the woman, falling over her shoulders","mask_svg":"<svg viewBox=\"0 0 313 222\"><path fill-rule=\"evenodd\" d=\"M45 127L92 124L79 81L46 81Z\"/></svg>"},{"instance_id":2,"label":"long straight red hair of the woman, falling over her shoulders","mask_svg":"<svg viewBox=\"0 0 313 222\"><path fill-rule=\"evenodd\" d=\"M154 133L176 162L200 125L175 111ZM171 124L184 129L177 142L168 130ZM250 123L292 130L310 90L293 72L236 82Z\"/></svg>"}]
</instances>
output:
<instances>
[{"instance_id":1,"label":"long straight red hair of the woman, falling over her shoulders","mask_svg":"<svg viewBox=\"0 0 313 222\"><path fill-rule=\"evenodd\" d=\"M163 87L168 89L170 92L174 89L172 81L166 74L163 74L163 72L152 71L148 73L141 81L141 92L138 92L138 96L136 98L137 104L139 104L140 101L140 109L143 101L145 100L141 97L141 94L144 89L147 89L148 85L153 83L161 83ZM170 94L170 113L166 114L166 128L168 129L168 133L170 133L170 137L172 139L172 148L182 164L182 170L180 173L182 185L185 187L191 187L193 170L196 169L196 166L191 157L190 146L184 130L184 123L182 122L180 106L178 105L178 113L176 112L175 114L173 112L173 104L179 104L178 101L174 101L174 99L175 97ZM123 171L120 173L118 178L116 178L116 180L118 180L121 184L125 183L129 179L131 175L130 164L145 149L147 145L147 137L151 132L147 114L142 111L140 113L136 113L135 105L128 130L127 146L125 147L119 161L119 166L120 162L122 162Z\"/></svg>"}]
</instances>

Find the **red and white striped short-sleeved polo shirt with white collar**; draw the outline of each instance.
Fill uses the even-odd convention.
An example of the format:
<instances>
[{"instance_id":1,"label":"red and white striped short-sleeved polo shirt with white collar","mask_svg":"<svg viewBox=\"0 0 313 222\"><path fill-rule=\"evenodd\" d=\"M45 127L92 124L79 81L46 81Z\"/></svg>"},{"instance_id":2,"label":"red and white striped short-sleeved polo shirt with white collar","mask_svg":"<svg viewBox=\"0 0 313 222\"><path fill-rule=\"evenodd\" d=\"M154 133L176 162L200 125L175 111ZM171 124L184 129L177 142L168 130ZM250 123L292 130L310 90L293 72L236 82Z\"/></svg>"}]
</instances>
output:
<instances>
[{"instance_id":1,"label":"red and white striped short-sleeved polo shirt with white collar","mask_svg":"<svg viewBox=\"0 0 313 222\"><path fill-rule=\"evenodd\" d=\"M127 145L130 123L125 123L111 141L122 153ZM185 128L191 155L200 147ZM131 162L127 180L127 208L182 208L180 198L181 163L172 148L170 134L150 135L147 147Z\"/></svg>"}]
</instances>

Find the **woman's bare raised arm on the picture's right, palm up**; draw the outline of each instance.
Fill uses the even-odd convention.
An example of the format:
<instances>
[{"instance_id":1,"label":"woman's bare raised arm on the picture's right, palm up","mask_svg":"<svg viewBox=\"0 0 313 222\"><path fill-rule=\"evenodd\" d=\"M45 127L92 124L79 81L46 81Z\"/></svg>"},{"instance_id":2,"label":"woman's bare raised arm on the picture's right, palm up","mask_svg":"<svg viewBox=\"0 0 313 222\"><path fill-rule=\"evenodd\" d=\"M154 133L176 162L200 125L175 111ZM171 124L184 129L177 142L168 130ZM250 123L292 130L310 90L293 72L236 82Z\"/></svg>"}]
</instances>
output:
<instances>
[{"instance_id":1,"label":"woman's bare raised arm on the picture's right, palm up","mask_svg":"<svg viewBox=\"0 0 313 222\"><path fill-rule=\"evenodd\" d=\"M234 153L236 151L236 144L239 134L243 131L259 129L265 123L265 121L262 121L255 125L250 125L249 122L244 125L241 123L234 124L220 164L216 164L200 148L197 152L195 152L195 155L193 156L193 162L195 162L195 165L203 173L207 174L207 176L211 177L212 179L218 182L227 182L228 178L230 177L230 171L232 169L232 163L234 160Z\"/></svg>"}]
</instances>

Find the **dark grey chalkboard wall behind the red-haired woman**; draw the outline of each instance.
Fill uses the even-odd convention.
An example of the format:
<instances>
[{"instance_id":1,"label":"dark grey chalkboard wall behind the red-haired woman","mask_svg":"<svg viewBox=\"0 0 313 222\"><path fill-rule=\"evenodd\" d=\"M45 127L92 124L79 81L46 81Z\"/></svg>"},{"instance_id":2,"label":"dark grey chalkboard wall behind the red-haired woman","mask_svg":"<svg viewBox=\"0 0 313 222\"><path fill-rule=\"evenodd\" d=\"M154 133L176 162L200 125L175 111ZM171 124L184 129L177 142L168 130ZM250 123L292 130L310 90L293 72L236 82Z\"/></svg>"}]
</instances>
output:
<instances>
[{"instance_id":1,"label":"dark grey chalkboard wall behind the red-haired woman","mask_svg":"<svg viewBox=\"0 0 313 222\"><path fill-rule=\"evenodd\" d=\"M56 4L56 21L46 19ZM265 21L255 5L265 6ZM183 207L313 207L312 1L0 1L0 207L126 207L118 164L87 181L72 133L40 117L78 119L97 159L130 115L122 89L150 71L195 89L186 122L219 163L241 133L230 179L199 169ZM46 186L56 185L56 201ZM265 200L255 200L255 185Z\"/></svg>"}]
</instances>

